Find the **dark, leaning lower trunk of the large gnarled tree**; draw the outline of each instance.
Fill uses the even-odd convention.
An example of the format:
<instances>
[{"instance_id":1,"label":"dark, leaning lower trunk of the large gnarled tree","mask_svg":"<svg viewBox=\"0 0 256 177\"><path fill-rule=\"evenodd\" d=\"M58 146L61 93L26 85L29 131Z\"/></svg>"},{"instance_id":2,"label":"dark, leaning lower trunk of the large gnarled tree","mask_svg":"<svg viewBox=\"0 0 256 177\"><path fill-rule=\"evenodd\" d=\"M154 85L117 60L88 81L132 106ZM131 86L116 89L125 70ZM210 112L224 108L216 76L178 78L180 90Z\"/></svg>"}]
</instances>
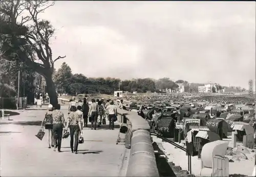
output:
<instances>
[{"instance_id":1,"label":"dark, leaning lower trunk of the large gnarled tree","mask_svg":"<svg viewBox=\"0 0 256 177\"><path fill-rule=\"evenodd\" d=\"M52 104L53 107L56 107L56 105L58 104L58 96L56 93L54 82L52 80L52 75L47 75L45 79L46 79L47 93L48 93L48 96L50 97L50 104Z\"/></svg>"}]
</instances>

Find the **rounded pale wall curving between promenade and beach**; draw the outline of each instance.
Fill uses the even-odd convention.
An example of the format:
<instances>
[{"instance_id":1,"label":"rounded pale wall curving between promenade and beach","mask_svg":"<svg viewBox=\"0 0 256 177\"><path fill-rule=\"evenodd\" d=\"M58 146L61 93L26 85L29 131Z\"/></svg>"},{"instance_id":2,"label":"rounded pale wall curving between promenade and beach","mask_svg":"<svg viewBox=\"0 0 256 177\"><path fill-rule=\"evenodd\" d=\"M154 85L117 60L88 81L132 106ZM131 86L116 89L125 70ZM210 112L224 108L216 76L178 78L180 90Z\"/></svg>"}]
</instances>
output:
<instances>
[{"instance_id":1,"label":"rounded pale wall curving between promenade and beach","mask_svg":"<svg viewBox=\"0 0 256 177\"><path fill-rule=\"evenodd\" d=\"M159 176L150 136L150 125L137 112L117 110L132 130L132 143L126 176ZM120 121L120 120L119 120Z\"/></svg>"}]
</instances>

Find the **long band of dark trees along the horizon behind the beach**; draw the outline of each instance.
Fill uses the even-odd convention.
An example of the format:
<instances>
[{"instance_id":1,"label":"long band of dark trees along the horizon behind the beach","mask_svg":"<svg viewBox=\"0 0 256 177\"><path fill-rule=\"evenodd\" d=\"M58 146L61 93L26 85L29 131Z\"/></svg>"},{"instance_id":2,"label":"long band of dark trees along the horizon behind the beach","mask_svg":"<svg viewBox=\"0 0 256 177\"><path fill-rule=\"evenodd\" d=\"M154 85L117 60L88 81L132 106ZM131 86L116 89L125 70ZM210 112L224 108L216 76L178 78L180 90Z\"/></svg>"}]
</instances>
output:
<instances>
[{"instance_id":1,"label":"long band of dark trees along the horizon behind the beach","mask_svg":"<svg viewBox=\"0 0 256 177\"><path fill-rule=\"evenodd\" d=\"M117 78L87 78L83 74L73 74L70 66L63 62L58 70L53 72L53 81L58 93L79 94L79 93L103 93L113 94L115 90L127 92L147 91L160 92L166 89L179 90L178 84L184 85L185 92L198 92L198 86L204 84L188 83L187 81L172 81L169 78L158 80L151 78L123 80ZM219 86L221 87L221 86ZM219 88L218 87L218 88Z\"/></svg>"}]
</instances>

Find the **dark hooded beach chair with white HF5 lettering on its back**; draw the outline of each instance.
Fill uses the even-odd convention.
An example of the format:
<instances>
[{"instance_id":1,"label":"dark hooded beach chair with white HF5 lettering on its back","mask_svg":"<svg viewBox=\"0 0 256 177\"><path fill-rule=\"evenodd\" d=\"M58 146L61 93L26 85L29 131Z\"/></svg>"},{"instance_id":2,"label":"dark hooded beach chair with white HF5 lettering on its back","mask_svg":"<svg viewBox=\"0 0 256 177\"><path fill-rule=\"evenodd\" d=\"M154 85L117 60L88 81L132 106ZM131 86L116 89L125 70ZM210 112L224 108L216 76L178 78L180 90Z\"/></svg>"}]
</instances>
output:
<instances>
[{"instance_id":1,"label":"dark hooded beach chair with white HF5 lettering on its back","mask_svg":"<svg viewBox=\"0 0 256 177\"><path fill-rule=\"evenodd\" d=\"M220 136L220 139L227 138L228 124L224 120L209 119L206 122L206 126L211 132L214 132Z\"/></svg>"}]
</instances>

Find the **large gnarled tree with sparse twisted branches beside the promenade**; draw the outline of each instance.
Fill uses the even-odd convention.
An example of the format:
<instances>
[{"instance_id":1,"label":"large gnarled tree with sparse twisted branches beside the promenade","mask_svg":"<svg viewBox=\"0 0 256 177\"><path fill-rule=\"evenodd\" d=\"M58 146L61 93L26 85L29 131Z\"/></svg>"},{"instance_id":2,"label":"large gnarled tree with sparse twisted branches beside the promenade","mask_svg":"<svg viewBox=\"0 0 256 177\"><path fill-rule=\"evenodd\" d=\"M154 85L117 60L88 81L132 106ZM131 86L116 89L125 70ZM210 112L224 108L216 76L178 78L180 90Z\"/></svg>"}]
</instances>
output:
<instances>
[{"instance_id":1,"label":"large gnarled tree with sparse twisted branches beside the promenade","mask_svg":"<svg viewBox=\"0 0 256 177\"><path fill-rule=\"evenodd\" d=\"M1 1L1 52L9 61L21 61L41 74L46 79L50 103L56 106L54 62L66 56L53 59L49 40L54 28L50 21L38 18L38 14L53 5L49 1ZM22 16L24 11L29 15Z\"/></svg>"}]
</instances>

